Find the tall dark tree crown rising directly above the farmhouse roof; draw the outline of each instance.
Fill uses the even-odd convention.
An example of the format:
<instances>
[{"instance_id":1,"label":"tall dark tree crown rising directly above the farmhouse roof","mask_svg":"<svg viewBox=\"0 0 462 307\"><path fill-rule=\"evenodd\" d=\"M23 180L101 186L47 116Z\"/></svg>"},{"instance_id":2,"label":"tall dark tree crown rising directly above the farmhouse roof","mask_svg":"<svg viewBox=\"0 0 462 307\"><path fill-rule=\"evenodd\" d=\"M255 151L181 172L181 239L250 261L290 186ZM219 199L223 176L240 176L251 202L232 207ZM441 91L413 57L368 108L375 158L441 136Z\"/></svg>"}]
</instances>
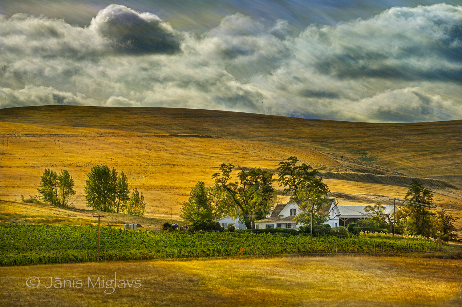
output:
<instances>
[{"instance_id":1,"label":"tall dark tree crown rising directly above the farmhouse roof","mask_svg":"<svg viewBox=\"0 0 462 307\"><path fill-rule=\"evenodd\" d=\"M287 161L280 162L276 169L279 172L277 181L284 186L282 195L292 193L292 198L295 199L300 198L298 192L318 173L316 169L311 169L311 166L306 163L297 165L298 162L297 157L288 157Z\"/></svg>"}]
</instances>

